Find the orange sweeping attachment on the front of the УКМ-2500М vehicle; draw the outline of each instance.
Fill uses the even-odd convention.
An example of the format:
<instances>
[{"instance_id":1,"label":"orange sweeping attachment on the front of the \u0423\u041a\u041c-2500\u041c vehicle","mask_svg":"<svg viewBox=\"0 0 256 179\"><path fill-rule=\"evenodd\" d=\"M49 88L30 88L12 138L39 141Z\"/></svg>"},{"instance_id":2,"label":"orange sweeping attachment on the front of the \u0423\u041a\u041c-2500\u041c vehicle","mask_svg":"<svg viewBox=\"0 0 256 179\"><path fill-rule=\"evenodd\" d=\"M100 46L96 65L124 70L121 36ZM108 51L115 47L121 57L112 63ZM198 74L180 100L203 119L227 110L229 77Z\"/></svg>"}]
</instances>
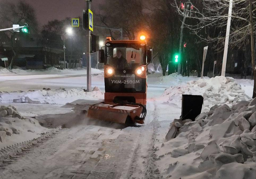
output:
<instances>
[{"instance_id":1,"label":"orange sweeping attachment on the front of the \u0423\u041a\u041c-2500\u041c vehicle","mask_svg":"<svg viewBox=\"0 0 256 179\"><path fill-rule=\"evenodd\" d=\"M144 123L144 119L139 118L142 112L142 107L130 104L113 104L113 103L98 103L91 105L87 116L92 119L105 120L115 123L126 122L126 119L134 123Z\"/></svg>"}]
</instances>

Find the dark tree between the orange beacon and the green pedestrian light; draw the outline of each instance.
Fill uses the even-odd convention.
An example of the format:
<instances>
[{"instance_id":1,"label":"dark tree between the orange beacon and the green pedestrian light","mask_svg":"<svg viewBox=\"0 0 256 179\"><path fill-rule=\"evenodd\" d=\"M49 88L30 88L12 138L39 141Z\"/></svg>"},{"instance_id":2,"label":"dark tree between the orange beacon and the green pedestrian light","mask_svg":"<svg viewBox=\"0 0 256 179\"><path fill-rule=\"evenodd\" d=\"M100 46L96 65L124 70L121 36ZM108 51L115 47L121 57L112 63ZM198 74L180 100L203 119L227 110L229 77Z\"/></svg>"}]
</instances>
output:
<instances>
[{"instance_id":1,"label":"dark tree between the orange beacon and the green pedestrian light","mask_svg":"<svg viewBox=\"0 0 256 179\"><path fill-rule=\"evenodd\" d=\"M148 24L154 51L165 75L170 57L178 52L180 16L172 11L175 10L172 1L152 1L152 7L155 8L151 9Z\"/></svg>"}]
</instances>

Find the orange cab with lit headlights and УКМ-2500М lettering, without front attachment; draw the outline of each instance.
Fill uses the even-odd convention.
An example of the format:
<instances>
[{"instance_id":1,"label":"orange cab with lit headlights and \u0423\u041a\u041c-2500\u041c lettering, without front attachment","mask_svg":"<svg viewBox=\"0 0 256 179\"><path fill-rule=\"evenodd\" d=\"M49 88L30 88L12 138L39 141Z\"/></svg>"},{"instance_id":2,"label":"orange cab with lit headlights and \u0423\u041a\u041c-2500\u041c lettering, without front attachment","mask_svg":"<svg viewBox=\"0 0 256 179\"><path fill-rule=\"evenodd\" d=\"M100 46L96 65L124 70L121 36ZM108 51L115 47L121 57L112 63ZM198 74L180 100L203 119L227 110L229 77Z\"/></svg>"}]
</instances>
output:
<instances>
[{"instance_id":1,"label":"orange cab with lit headlights and \u0423\u041a\u041c-2500\u041c lettering, without front attachment","mask_svg":"<svg viewBox=\"0 0 256 179\"><path fill-rule=\"evenodd\" d=\"M133 102L146 106L147 63L152 50L145 40L105 41L100 50L100 62L104 62L105 102Z\"/></svg>"}]
</instances>

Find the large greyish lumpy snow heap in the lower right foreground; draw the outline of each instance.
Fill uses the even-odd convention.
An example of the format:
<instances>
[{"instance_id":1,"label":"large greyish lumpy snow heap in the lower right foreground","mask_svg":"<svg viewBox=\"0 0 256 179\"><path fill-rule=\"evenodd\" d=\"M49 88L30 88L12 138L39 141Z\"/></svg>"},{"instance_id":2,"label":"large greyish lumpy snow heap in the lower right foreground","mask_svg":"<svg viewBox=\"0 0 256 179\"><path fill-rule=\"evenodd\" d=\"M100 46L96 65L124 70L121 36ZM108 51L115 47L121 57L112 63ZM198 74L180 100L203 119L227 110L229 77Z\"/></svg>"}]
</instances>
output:
<instances>
[{"instance_id":1,"label":"large greyish lumpy snow heap in the lower right foreground","mask_svg":"<svg viewBox=\"0 0 256 179\"><path fill-rule=\"evenodd\" d=\"M255 178L255 101L216 105L155 146L164 178Z\"/></svg>"}]
</instances>

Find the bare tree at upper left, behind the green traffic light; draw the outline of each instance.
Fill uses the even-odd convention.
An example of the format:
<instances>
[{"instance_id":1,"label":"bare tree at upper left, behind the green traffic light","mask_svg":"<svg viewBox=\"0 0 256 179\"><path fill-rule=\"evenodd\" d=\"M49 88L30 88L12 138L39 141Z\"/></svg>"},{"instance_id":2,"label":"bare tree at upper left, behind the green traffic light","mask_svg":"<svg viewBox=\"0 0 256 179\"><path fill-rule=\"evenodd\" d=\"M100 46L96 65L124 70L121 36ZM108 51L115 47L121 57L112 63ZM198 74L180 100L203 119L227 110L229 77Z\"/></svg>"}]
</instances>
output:
<instances>
[{"instance_id":1,"label":"bare tree at upper left, behind the green traffic light","mask_svg":"<svg viewBox=\"0 0 256 179\"><path fill-rule=\"evenodd\" d=\"M24 25L24 23L29 24L31 33L37 32L38 23L36 20L35 10L28 3L19 1L17 4L10 3L8 1L0 2L0 27L7 28L11 27L13 24ZM12 48L12 59L9 68L12 68L13 60L17 56L18 45L17 38L19 33L13 31L3 32L11 43Z\"/></svg>"}]
</instances>

